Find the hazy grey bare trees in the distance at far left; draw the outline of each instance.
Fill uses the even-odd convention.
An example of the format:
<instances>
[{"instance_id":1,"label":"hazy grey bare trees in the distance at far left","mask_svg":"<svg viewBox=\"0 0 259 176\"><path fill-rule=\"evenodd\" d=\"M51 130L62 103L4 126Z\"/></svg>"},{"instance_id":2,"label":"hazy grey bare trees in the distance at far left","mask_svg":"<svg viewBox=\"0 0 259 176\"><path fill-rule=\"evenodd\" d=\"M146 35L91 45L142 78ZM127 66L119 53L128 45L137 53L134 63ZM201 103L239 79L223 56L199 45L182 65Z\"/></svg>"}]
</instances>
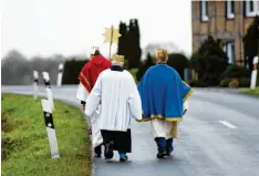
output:
<instances>
[{"instance_id":1,"label":"hazy grey bare trees in the distance at far left","mask_svg":"<svg viewBox=\"0 0 259 176\"><path fill-rule=\"evenodd\" d=\"M51 58L42 58L40 55L27 60L19 51L10 51L2 60L2 85L29 85L32 83L32 72L37 70L39 73L46 71L51 77L51 84L56 83L58 66L63 63L65 58L55 54ZM43 80L40 76L40 83Z\"/></svg>"}]
</instances>

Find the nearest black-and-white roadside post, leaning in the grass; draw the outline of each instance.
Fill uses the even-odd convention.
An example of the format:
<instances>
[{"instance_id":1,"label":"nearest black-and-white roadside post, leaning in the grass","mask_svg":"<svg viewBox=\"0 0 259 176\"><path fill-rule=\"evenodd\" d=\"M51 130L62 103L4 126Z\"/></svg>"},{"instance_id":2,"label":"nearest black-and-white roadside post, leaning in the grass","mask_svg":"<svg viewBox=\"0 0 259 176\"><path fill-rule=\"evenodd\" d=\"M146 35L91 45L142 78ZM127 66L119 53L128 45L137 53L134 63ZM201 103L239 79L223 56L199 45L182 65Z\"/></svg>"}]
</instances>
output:
<instances>
[{"instance_id":1,"label":"nearest black-and-white roadside post, leaning in the grass","mask_svg":"<svg viewBox=\"0 0 259 176\"><path fill-rule=\"evenodd\" d=\"M49 138L49 144L50 144L50 152L51 152L51 157L52 158L59 158L60 153L59 153L59 146L58 146L58 141L56 141L56 135L55 135L55 126L53 122L53 116L52 116L52 108L51 108L51 103L48 100L41 100L41 105L44 114L44 121L45 121L45 128L46 128L46 134Z\"/></svg>"}]
</instances>

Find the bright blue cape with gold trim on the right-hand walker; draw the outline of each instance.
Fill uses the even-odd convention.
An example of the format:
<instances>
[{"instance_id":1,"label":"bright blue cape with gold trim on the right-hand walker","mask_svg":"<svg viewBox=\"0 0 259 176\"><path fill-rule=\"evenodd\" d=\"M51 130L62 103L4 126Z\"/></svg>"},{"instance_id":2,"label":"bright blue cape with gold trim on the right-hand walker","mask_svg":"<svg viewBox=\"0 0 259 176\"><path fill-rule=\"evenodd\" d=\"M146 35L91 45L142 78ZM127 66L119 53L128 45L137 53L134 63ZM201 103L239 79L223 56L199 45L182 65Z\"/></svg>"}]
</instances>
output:
<instances>
[{"instance_id":1,"label":"bright blue cape with gold trim on the right-hand walker","mask_svg":"<svg viewBox=\"0 0 259 176\"><path fill-rule=\"evenodd\" d=\"M148 69L137 89L142 99L144 122L152 118L182 121L184 101L193 93L177 71L166 64Z\"/></svg>"}]
</instances>

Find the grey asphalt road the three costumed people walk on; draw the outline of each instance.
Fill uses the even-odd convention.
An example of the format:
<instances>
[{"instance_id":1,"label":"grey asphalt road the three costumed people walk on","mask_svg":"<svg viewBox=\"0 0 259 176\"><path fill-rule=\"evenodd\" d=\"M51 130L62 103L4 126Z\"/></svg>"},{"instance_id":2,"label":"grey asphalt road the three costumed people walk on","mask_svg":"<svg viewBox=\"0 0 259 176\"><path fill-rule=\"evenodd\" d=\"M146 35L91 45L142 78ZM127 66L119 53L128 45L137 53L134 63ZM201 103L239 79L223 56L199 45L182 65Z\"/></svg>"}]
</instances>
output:
<instances>
[{"instance_id":1,"label":"grey asphalt road the three costumed people walk on","mask_svg":"<svg viewBox=\"0 0 259 176\"><path fill-rule=\"evenodd\" d=\"M53 87L72 105L76 86ZM31 94L31 86L2 86L2 92ZM42 95L45 94L41 87ZM94 158L96 176L259 176L259 99L195 90L179 126L173 156L158 161L149 123L132 124L130 162Z\"/></svg>"}]
</instances>

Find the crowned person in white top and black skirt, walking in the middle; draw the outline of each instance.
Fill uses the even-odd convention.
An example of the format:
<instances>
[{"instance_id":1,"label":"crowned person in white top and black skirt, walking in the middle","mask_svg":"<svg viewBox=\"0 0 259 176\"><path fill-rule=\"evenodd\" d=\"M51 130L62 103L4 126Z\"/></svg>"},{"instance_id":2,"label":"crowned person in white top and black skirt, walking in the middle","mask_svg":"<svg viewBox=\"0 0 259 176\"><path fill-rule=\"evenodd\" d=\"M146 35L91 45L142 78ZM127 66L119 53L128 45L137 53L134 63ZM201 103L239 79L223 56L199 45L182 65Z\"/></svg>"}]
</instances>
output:
<instances>
[{"instance_id":1,"label":"crowned person in white top and black skirt, walking in the middle","mask_svg":"<svg viewBox=\"0 0 259 176\"><path fill-rule=\"evenodd\" d=\"M113 157L117 151L120 161L127 161L132 151L131 118L142 118L142 103L133 76L123 70L124 56L113 58L112 68L103 71L86 101L89 116L101 102L100 128L104 141L104 156ZM92 116L93 117L93 116Z\"/></svg>"}]
</instances>

